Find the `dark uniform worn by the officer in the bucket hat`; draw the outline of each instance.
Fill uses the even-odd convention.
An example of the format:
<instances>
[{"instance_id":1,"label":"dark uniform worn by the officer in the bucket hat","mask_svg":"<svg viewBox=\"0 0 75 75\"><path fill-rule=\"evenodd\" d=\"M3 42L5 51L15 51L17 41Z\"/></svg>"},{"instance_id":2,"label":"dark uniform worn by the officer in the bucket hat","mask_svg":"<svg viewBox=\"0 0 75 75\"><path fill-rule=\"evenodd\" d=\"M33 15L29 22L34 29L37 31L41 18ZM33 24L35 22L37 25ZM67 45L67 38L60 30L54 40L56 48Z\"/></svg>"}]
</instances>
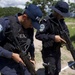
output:
<instances>
[{"instance_id":1,"label":"dark uniform worn by the officer in the bucket hat","mask_svg":"<svg viewBox=\"0 0 75 75\"><path fill-rule=\"evenodd\" d=\"M63 29L68 33L64 20L60 20ZM61 43L55 42L55 35L60 35L58 20L51 14L41 21L40 30L36 33L36 38L42 41L42 58L44 63L50 63L50 69L45 67L45 75L58 75L61 69ZM53 74L52 74L53 73Z\"/></svg>"}]
</instances>

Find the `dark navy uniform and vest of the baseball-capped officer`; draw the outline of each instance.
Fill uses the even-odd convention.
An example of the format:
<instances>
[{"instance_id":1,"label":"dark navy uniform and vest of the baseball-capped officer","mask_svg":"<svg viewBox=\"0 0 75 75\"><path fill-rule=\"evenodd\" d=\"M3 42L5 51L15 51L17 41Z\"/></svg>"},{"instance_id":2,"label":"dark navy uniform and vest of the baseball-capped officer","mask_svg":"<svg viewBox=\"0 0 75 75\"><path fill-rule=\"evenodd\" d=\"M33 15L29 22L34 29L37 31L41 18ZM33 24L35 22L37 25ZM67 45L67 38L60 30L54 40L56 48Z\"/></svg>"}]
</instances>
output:
<instances>
[{"instance_id":1,"label":"dark navy uniform and vest of the baseball-capped officer","mask_svg":"<svg viewBox=\"0 0 75 75\"><path fill-rule=\"evenodd\" d=\"M31 75L25 66L16 63L11 57L12 52L19 53L16 50L16 42L13 35L17 38L22 50L25 50L25 38L31 40L31 48L29 50L31 56L34 57L34 46L33 46L33 28L24 29L18 21L18 13L15 16L9 16L0 18L0 72L3 75ZM15 33L15 34L14 34ZM12 35L13 34L13 35Z\"/></svg>"}]
</instances>

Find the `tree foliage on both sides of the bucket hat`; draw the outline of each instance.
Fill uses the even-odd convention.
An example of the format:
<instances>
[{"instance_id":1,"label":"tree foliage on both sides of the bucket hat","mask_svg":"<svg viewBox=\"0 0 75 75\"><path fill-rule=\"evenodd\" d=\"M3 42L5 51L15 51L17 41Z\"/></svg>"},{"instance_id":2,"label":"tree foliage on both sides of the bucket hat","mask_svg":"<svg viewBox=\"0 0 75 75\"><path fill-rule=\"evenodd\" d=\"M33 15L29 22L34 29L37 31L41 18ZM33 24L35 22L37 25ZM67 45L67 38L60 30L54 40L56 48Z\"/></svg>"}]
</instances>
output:
<instances>
[{"instance_id":1,"label":"tree foliage on both sides of the bucket hat","mask_svg":"<svg viewBox=\"0 0 75 75\"><path fill-rule=\"evenodd\" d=\"M60 0L30 0L33 4L40 6L44 15L51 12L50 7ZM61 0L64 1L64 0ZM26 3L27 4L27 3ZM29 4L29 2L28 2ZM75 3L68 2L70 11L75 13Z\"/></svg>"}]
</instances>

